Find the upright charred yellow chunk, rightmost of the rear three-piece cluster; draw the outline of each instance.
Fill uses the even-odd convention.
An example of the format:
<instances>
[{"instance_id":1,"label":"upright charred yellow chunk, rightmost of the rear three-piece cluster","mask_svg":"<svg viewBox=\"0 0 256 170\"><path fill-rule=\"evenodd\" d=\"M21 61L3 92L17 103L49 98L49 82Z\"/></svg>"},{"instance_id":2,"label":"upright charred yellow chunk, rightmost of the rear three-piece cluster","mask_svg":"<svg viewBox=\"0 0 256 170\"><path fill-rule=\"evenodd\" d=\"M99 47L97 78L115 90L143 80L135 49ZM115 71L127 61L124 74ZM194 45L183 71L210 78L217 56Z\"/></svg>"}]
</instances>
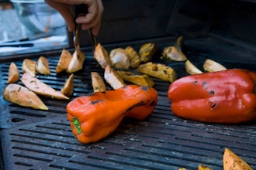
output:
<instances>
[{"instance_id":1,"label":"upright charred yellow chunk, rightmost of the rear three-piece cluster","mask_svg":"<svg viewBox=\"0 0 256 170\"><path fill-rule=\"evenodd\" d=\"M157 45L155 43L145 43L140 47L139 56L142 62L147 63L152 60L154 54L157 52Z\"/></svg>"}]
</instances>

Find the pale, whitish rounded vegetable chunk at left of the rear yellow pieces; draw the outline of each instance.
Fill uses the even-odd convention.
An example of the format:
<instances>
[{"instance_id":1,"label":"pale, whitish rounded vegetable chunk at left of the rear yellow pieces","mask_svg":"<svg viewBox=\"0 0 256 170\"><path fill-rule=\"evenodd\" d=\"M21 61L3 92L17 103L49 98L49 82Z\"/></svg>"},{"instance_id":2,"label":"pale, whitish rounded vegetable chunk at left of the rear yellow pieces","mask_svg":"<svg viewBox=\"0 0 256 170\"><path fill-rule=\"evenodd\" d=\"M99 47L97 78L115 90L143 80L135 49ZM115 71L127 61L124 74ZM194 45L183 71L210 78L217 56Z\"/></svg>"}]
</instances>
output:
<instances>
[{"instance_id":1,"label":"pale, whitish rounded vegetable chunk at left of the rear yellow pieces","mask_svg":"<svg viewBox=\"0 0 256 170\"><path fill-rule=\"evenodd\" d=\"M116 69L129 69L130 59L125 49L112 49L109 53L111 66Z\"/></svg>"}]
</instances>

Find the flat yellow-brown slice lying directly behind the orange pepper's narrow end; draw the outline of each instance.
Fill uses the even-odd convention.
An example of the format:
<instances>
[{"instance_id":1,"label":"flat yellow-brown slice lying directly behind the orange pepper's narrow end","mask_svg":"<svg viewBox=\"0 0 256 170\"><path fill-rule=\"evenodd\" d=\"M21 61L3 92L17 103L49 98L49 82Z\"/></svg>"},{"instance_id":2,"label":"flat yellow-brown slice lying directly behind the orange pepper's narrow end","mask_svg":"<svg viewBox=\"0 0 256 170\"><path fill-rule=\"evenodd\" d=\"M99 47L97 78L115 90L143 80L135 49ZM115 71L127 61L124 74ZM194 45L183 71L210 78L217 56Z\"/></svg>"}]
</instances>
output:
<instances>
[{"instance_id":1,"label":"flat yellow-brown slice lying directly behind the orange pepper's narrow end","mask_svg":"<svg viewBox=\"0 0 256 170\"><path fill-rule=\"evenodd\" d=\"M117 73L119 73L119 75L123 78L123 80L129 81L131 83L135 83L139 86L154 87L154 81L146 74L138 75L130 71L120 71L120 70L117 70Z\"/></svg>"}]
</instances>

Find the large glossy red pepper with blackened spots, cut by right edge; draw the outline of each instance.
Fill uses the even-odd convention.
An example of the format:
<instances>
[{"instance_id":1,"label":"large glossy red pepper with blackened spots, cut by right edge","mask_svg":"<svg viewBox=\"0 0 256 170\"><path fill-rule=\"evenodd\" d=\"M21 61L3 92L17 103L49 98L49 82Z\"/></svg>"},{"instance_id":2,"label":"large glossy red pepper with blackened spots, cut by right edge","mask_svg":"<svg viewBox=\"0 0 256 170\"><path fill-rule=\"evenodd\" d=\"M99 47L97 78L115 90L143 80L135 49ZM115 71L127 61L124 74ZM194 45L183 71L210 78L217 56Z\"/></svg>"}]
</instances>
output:
<instances>
[{"instance_id":1,"label":"large glossy red pepper with blackened spots, cut by right edge","mask_svg":"<svg viewBox=\"0 0 256 170\"><path fill-rule=\"evenodd\" d=\"M230 69L184 76L171 83L171 110L193 121L237 124L256 120L256 73Z\"/></svg>"}]
</instances>

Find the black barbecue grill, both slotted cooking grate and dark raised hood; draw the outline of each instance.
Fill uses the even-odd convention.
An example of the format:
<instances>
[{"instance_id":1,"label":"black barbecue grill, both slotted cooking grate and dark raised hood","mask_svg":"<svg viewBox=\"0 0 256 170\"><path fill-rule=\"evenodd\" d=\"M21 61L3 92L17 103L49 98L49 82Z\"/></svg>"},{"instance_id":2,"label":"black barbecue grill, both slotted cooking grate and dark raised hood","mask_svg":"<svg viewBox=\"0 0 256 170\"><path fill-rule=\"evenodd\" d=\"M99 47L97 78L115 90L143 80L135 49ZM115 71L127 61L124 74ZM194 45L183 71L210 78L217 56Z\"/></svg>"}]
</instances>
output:
<instances>
[{"instance_id":1,"label":"black barbecue grill, both slotted cooking grate and dark raised hood","mask_svg":"<svg viewBox=\"0 0 256 170\"><path fill-rule=\"evenodd\" d=\"M187 75L184 62L170 62L160 56L164 47L175 43L175 37L185 35L182 51L199 69L206 59L213 59L227 68L256 72L253 0L109 0L104 4L106 12L98 40L108 52L126 46L138 51L144 43L155 42L153 62L173 67L179 78ZM92 93L92 71L103 76L88 42L81 42L81 46L85 65L74 73L71 100ZM74 52L71 47L67 50ZM40 56L47 57L50 76L36 77L61 90L69 75L54 71L60 55L61 49L0 57L2 169L197 169L199 165L223 169L224 148L230 148L256 169L254 122L208 124L175 117L167 97L170 83L157 78L153 80L159 100L150 117L144 121L125 118L108 138L89 145L79 143L72 134L65 109L69 100L40 97L49 107L45 111L19 107L3 99L9 64L15 62L22 73L25 58L36 61ZM107 89L111 87L107 85Z\"/></svg>"}]
</instances>

